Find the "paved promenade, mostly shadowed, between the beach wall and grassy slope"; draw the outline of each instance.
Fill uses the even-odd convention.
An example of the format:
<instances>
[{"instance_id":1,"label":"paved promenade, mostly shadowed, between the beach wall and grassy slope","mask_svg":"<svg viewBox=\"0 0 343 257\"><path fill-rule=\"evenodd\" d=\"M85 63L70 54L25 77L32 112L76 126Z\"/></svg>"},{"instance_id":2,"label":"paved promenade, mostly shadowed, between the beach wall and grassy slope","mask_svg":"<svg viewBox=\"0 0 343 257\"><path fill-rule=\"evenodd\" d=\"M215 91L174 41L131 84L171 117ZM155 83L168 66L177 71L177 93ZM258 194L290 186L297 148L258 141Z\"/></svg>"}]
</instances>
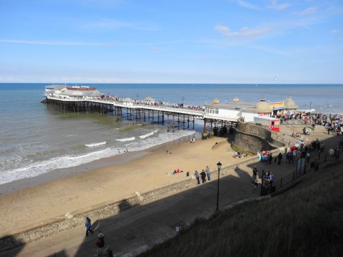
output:
<instances>
[{"instance_id":1,"label":"paved promenade, mostly shadowed, between the beach wall and grassy slope","mask_svg":"<svg viewBox=\"0 0 343 257\"><path fill-rule=\"evenodd\" d=\"M286 140L296 142L296 138L287 136L288 132L298 132L303 125L283 125L281 134ZM291 130L292 129L292 130ZM292 134L292 133L291 133ZM286 138L287 137L287 138ZM329 147L335 147L340 137L327 135L324 127L318 127L316 132L307 136L311 142L321 138L327 143L325 152ZM341 158L342 159L342 158ZM228 156L228 162L234 162ZM239 159L244 162L243 159ZM217 160L213 160L215 162ZM237 165L239 162L237 162ZM249 164L237 166L229 175L220 179L220 209L241 199L257 197L259 187L251 184L252 168L257 166L258 171L269 169L275 174L275 180L292 172L295 164ZM212 173L216 171L211 169ZM95 234L84 238L82 225L60 232L47 238L34 241L1 254L1 256L93 256L95 251L95 238L98 232L105 234L106 245L110 245L115 256L133 256L128 253L141 251L152 247L156 243L176 234L176 227L189 225L198 217L210 217L215 212L217 199L217 180L212 180L201 186L194 186L187 191L173 193L156 201L141 204L119 212L117 215L99 220L93 220Z\"/></svg>"}]
</instances>

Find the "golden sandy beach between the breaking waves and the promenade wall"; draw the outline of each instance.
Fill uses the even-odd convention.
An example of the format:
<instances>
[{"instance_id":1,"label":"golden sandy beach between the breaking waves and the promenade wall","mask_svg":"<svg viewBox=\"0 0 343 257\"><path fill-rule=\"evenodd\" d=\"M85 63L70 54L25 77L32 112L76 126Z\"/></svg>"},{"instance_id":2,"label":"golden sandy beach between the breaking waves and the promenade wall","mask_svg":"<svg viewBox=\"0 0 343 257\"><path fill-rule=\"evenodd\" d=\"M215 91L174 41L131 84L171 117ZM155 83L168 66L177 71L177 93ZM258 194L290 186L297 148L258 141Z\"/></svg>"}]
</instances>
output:
<instances>
[{"instance_id":1,"label":"golden sandy beach between the breaking waves and the promenade wall","mask_svg":"<svg viewBox=\"0 0 343 257\"><path fill-rule=\"evenodd\" d=\"M214 145L216 146L213 147ZM121 158L130 159L130 154L132 153L124 154ZM143 193L185 180L187 171L193 175L196 169L201 171L206 165L209 165L211 171L216 171L219 160L223 167L239 162L232 156L233 151L226 138L196 140L194 144L185 141L178 145L156 147L137 160L58 178L1 195L1 228L9 234L12 230L64 216L73 210L108 200L125 199L135 192ZM174 169L180 169L184 173L166 174L172 173Z\"/></svg>"}]
</instances>

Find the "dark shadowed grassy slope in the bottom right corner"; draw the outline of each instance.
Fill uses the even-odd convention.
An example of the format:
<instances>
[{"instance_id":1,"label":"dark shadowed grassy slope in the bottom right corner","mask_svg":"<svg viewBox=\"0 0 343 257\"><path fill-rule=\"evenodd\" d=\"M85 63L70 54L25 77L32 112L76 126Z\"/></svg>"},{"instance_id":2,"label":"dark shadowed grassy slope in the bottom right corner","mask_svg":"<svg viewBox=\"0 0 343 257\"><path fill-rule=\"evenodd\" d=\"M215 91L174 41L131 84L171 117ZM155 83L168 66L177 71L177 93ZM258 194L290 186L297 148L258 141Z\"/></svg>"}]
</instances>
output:
<instances>
[{"instance_id":1,"label":"dark shadowed grassy slope in the bottom right corner","mask_svg":"<svg viewBox=\"0 0 343 257\"><path fill-rule=\"evenodd\" d=\"M145 256L343 256L343 164L266 199L196 220Z\"/></svg>"}]
</instances>

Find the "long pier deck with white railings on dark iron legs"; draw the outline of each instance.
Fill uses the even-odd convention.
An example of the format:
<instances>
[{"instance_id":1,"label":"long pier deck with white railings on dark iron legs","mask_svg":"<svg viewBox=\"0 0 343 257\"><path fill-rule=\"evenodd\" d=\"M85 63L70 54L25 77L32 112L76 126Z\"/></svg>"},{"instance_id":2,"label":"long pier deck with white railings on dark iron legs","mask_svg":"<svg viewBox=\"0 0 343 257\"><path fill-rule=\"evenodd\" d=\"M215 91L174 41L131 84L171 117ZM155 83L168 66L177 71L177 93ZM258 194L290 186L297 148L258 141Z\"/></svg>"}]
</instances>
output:
<instances>
[{"instance_id":1,"label":"long pier deck with white railings on dark iron legs","mask_svg":"<svg viewBox=\"0 0 343 257\"><path fill-rule=\"evenodd\" d=\"M60 112L96 112L99 114L113 114L117 119L127 119L136 122L161 123L167 122L167 131L174 132L175 128L185 129L192 127L194 129L196 120L204 121L204 132L208 129L235 127L237 119L228 119L228 117L209 117L205 111L195 108L183 108L182 106L171 107L163 104L147 104L142 101L115 101L113 99L95 99L94 97L71 98L56 97L48 95L42 101L48 108ZM209 126L209 128L206 128ZM211 127L211 128L210 128Z\"/></svg>"}]
</instances>

